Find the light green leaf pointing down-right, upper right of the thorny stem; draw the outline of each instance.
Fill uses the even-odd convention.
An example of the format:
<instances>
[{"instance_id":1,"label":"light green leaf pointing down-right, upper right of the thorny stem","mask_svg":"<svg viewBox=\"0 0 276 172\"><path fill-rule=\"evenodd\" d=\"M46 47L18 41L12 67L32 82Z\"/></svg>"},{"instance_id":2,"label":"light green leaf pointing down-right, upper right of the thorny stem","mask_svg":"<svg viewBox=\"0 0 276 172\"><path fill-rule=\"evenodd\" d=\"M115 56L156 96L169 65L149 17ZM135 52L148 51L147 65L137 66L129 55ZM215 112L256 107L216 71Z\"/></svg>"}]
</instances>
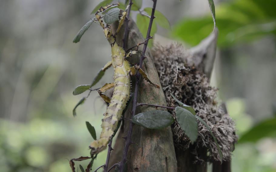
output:
<instances>
[{"instance_id":1,"label":"light green leaf pointing down-right, upper right of the thorny stem","mask_svg":"<svg viewBox=\"0 0 276 172\"><path fill-rule=\"evenodd\" d=\"M148 13L148 15L151 15L152 8L146 7L144 11ZM156 17L154 18L154 21L156 21L158 25L160 25L162 28L171 30L169 20L160 11L155 10L154 16Z\"/></svg>"}]
</instances>

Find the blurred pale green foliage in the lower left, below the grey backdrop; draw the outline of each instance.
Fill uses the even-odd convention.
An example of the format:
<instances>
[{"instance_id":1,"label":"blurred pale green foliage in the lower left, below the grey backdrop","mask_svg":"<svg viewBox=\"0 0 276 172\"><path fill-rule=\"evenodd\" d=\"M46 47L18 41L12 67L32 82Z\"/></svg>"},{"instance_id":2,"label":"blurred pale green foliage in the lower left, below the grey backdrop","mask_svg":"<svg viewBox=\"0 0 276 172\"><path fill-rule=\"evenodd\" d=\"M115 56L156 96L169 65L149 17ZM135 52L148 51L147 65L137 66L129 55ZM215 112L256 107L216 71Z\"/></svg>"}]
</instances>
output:
<instances>
[{"instance_id":1,"label":"blurred pale green foliage in the lower left, below the grey backdrop","mask_svg":"<svg viewBox=\"0 0 276 172\"><path fill-rule=\"evenodd\" d=\"M84 117L72 120L53 121L36 118L27 124L0 120L0 166L1 171L70 171L69 159L90 156L88 144L92 141L85 127ZM100 121L97 115L95 121ZM93 122L96 131L100 132L99 124ZM83 149L87 147L87 149ZM99 154L93 169L102 165L106 151ZM89 161L78 162L86 167Z\"/></svg>"}]
</instances>

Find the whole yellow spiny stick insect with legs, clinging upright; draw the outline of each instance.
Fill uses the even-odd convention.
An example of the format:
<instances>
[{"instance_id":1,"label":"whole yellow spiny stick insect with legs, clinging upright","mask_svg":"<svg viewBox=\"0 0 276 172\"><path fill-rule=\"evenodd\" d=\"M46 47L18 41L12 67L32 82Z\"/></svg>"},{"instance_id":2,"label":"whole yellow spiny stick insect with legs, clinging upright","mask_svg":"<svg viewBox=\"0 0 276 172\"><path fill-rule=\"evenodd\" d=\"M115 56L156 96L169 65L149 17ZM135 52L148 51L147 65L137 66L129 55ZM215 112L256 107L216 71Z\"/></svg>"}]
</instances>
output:
<instances>
[{"instance_id":1,"label":"whole yellow spiny stick insect with legs, clinging upright","mask_svg":"<svg viewBox=\"0 0 276 172\"><path fill-rule=\"evenodd\" d=\"M100 134L99 140L93 141L89 148L91 149L90 154L99 154L101 151L106 149L108 142L112 139L114 131L117 128L118 122L121 119L123 110L126 108L126 103L130 98L130 75L136 74L136 71L142 74L143 78L148 81L150 84L153 84L146 76L145 72L138 66L134 65L130 67L130 63L126 60L127 57L131 57L133 54L136 54L137 51L130 50L128 53L116 43L116 36L123 25L123 22L126 18L128 7L122 13L122 16L119 20L118 28L113 34L110 25L104 24L102 17L99 15L100 12L104 12L107 8L114 6L107 5L101 7L96 13L96 20L99 22L99 25L103 28L104 35L111 46L111 61L103 67L103 70L106 70L109 67L114 69L114 82L106 83L102 88L98 90L99 95L103 98L108 107L106 112L103 114L104 118L102 120L102 132ZM140 44L137 44L137 47ZM160 88L159 85L153 84L156 87ZM103 94L105 91L114 88L113 95L111 98Z\"/></svg>"}]
</instances>

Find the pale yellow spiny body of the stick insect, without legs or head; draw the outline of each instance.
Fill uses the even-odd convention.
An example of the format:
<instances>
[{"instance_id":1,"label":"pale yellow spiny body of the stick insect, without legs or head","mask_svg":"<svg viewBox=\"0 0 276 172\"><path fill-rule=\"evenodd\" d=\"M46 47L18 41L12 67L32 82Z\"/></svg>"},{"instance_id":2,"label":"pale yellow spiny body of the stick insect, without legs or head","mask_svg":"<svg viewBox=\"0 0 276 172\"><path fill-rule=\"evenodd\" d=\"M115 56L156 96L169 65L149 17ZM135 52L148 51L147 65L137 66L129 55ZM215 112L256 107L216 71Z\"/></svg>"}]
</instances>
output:
<instances>
[{"instance_id":1,"label":"pale yellow spiny body of the stick insect, without legs or head","mask_svg":"<svg viewBox=\"0 0 276 172\"><path fill-rule=\"evenodd\" d=\"M106 149L126 107L126 102L130 98L130 65L128 61L124 60L125 52L116 42L112 45L111 51L115 86L110 103L104 113L100 138L89 146L91 154L98 154Z\"/></svg>"}]
</instances>

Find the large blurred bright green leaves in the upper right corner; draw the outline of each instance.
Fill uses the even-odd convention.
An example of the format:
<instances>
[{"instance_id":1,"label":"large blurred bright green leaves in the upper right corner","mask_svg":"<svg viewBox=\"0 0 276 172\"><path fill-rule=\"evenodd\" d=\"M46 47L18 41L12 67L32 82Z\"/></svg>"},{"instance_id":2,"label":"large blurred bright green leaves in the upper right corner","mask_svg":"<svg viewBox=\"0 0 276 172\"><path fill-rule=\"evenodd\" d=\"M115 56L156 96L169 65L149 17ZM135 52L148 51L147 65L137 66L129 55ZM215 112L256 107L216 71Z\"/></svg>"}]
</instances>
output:
<instances>
[{"instance_id":1,"label":"large blurred bright green leaves in the upper right corner","mask_svg":"<svg viewBox=\"0 0 276 172\"><path fill-rule=\"evenodd\" d=\"M219 29L218 45L227 47L240 41L251 41L264 35L276 35L275 0L235 0L216 7ZM173 28L172 36L197 45L213 30L212 18L186 18Z\"/></svg>"}]
</instances>

